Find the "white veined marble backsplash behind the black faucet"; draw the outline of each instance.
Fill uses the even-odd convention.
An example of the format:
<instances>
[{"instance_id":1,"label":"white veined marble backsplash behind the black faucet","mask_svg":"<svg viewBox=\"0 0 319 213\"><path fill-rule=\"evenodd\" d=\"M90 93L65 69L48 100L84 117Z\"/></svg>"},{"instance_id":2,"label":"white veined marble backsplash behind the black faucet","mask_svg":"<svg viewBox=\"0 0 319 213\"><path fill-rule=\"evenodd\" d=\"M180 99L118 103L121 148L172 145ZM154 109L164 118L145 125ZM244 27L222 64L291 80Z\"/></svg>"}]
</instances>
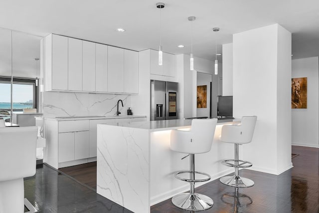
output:
<instances>
[{"instance_id":1,"label":"white veined marble backsplash behind the black faucet","mask_svg":"<svg viewBox=\"0 0 319 213\"><path fill-rule=\"evenodd\" d=\"M82 93L82 92L44 92L43 116L110 116L116 115L118 100L121 115L127 115L131 95Z\"/></svg>"}]
</instances>

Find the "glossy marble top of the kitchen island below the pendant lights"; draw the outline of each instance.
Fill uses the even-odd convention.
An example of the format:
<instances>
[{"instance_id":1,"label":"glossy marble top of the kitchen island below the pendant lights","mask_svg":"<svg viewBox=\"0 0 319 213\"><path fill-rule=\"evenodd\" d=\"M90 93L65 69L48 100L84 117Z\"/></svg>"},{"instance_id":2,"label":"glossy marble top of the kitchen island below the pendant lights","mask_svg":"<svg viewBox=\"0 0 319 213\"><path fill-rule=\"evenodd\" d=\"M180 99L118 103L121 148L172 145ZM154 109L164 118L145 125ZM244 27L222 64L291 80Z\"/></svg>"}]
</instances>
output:
<instances>
[{"instance_id":1,"label":"glossy marble top of the kitchen island below the pendant lights","mask_svg":"<svg viewBox=\"0 0 319 213\"><path fill-rule=\"evenodd\" d=\"M232 124L233 121L218 120L218 124ZM132 123L115 123L115 124L99 124L110 125L119 127L129 127L137 129L146 129L150 132L172 130L172 129L184 129L191 127L191 119L176 119L176 120L162 120L162 121L138 121Z\"/></svg>"}]
</instances>

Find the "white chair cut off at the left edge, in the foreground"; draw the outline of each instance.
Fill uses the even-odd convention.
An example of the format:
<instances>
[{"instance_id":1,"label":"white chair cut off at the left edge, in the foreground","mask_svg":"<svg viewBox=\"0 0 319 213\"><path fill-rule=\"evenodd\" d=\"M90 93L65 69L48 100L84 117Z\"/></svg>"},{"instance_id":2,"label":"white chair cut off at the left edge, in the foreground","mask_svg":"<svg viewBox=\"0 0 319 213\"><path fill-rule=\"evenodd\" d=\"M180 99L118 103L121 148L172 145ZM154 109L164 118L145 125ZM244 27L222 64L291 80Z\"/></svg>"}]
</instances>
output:
<instances>
[{"instance_id":1,"label":"white chair cut off at the left edge, in the foreground","mask_svg":"<svg viewBox=\"0 0 319 213\"><path fill-rule=\"evenodd\" d=\"M36 212L24 199L23 178L35 174L37 128L0 128L0 213ZM30 206L31 205L31 206Z\"/></svg>"}]
</instances>

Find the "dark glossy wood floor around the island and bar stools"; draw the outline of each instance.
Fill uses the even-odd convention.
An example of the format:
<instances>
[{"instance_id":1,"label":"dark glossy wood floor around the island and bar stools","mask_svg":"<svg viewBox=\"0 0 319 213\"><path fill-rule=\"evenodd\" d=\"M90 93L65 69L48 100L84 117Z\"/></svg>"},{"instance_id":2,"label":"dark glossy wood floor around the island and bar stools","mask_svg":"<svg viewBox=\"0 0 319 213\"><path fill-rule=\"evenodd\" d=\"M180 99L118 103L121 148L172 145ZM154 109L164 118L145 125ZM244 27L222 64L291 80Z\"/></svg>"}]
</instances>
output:
<instances>
[{"instance_id":1,"label":"dark glossy wood floor around the island and bar stools","mask_svg":"<svg viewBox=\"0 0 319 213\"><path fill-rule=\"evenodd\" d=\"M241 170L239 174L254 180L255 186L239 189L241 197L237 201L228 197L234 189L219 180L196 188L195 192L214 201L213 207L202 213L319 213L319 149L293 146L292 152L297 154L292 159L294 168L279 176ZM96 189L93 186L96 178L93 180L91 174L96 174L96 165L81 167L64 168L63 174L59 174L44 165L37 169L35 176L24 181L25 197L43 213L130 212L92 189ZM83 180L83 185L69 176ZM153 206L151 212L187 211L175 208L169 199Z\"/></svg>"}]
</instances>

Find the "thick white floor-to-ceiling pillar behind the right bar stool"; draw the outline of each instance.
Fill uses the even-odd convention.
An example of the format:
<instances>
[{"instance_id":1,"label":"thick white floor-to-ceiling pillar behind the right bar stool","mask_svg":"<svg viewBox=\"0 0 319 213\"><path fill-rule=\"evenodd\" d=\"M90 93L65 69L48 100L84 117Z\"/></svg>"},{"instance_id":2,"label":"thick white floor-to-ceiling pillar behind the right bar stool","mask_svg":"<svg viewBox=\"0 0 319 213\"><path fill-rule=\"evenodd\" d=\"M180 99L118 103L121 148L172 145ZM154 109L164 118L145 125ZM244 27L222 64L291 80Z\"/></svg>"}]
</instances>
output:
<instances>
[{"instance_id":1,"label":"thick white floor-to-ceiling pillar behind the right bar stool","mask_svg":"<svg viewBox=\"0 0 319 213\"><path fill-rule=\"evenodd\" d=\"M283 148L291 145L291 118L278 114L290 112L288 97L278 95L290 94L290 87L285 87L291 78L289 64L291 33L280 25L233 35L233 115L258 116L252 143L245 144L242 152L245 160L253 162L253 170L278 175L292 167L291 150ZM282 152L287 152L281 159L284 163L278 159Z\"/></svg>"}]
</instances>

